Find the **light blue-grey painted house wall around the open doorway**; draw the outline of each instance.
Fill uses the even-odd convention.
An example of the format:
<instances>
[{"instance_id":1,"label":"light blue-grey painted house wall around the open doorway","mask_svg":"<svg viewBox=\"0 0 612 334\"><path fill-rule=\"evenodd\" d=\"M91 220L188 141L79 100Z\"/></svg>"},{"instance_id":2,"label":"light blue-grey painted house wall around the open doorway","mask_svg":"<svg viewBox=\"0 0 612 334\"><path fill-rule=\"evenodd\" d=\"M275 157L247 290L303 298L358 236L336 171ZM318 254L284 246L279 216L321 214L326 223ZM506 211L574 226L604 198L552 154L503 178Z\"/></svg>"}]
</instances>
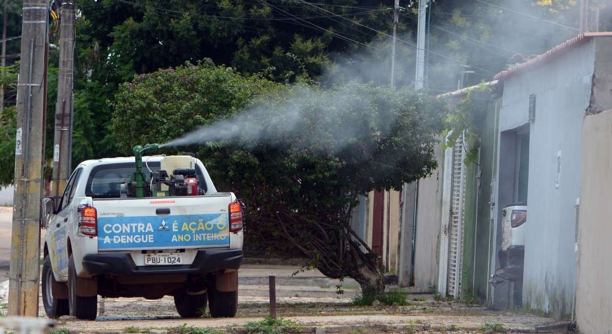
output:
<instances>
[{"instance_id":1,"label":"light blue-grey painted house wall around the open doorway","mask_svg":"<svg viewBox=\"0 0 612 334\"><path fill-rule=\"evenodd\" d=\"M507 78L499 116L499 139L528 123L529 95L537 94L530 124L528 221L524 259L523 306L569 317L576 275L575 202L580 195L582 121L589 107L595 42L588 40L563 55ZM510 201L507 186L512 154L500 141L498 225ZM561 183L556 161L561 151ZM506 168L507 167L507 168ZM506 184L506 185L504 185ZM498 227L499 228L499 227ZM499 243L496 249L499 247Z\"/></svg>"}]
</instances>

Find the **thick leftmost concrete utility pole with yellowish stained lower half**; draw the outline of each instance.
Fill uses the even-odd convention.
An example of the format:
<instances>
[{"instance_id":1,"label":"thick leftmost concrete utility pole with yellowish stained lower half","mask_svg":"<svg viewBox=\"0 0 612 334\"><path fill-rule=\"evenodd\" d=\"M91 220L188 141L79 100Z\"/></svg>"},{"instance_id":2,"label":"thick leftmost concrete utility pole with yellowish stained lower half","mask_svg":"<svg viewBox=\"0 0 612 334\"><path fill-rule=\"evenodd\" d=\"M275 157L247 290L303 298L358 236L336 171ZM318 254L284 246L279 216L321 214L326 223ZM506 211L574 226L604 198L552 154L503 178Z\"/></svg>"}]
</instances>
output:
<instances>
[{"instance_id":1,"label":"thick leftmost concrete utility pole with yellowish stained lower half","mask_svg":"<svg viewBox=\"0 0 612 334\"><path fill-rule=\"evenodd\" d=\"M38 316L40 197L43 191L47 93L47 6L46 0L23 1L9 278L9 314L19 316Z\"/></svg>"}]
</instances>

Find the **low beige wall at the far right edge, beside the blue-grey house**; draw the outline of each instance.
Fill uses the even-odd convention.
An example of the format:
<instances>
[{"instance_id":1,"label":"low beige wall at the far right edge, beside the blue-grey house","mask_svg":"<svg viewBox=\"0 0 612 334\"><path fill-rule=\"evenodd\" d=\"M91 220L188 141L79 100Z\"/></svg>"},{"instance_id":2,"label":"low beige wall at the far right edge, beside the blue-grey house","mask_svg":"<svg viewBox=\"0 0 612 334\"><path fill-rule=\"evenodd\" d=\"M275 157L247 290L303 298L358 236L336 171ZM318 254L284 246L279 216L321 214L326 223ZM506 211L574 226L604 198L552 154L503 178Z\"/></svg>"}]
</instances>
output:
<instances>
[{"instance_id":1,"label":"low beige wall at the far right edge, beside the blue-grey house","mask_svg":"<svg viewBox=\"0 0 612 334\"><path fill-rule=\"evenodd\" d=\"M581 333L610 333L612 110L586 116L583 134L576 315Z\"/></svg>"}]
</instances>

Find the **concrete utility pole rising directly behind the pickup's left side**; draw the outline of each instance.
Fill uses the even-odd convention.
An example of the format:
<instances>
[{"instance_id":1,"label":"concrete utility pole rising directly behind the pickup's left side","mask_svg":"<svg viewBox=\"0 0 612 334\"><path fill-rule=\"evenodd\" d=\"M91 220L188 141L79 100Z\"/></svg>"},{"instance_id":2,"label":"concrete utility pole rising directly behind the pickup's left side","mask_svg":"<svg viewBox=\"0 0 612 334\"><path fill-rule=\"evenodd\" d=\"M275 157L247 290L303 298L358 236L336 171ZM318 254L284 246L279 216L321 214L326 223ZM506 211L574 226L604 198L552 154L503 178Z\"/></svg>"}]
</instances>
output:
<instances>
[{"instance_id":1,"label":"concrete utility pole rising directly behind the pickup's left side","mask_svg":"<svg viewBox=\"0 0 612 334\"><path fill-rule=\"evenodd\" d=\"M59 19L58 102L53 137L53 183L51 195L58 202L72 172L72 67L75 43L75 4L62 2Z\"/></svg>"}]
</instances>

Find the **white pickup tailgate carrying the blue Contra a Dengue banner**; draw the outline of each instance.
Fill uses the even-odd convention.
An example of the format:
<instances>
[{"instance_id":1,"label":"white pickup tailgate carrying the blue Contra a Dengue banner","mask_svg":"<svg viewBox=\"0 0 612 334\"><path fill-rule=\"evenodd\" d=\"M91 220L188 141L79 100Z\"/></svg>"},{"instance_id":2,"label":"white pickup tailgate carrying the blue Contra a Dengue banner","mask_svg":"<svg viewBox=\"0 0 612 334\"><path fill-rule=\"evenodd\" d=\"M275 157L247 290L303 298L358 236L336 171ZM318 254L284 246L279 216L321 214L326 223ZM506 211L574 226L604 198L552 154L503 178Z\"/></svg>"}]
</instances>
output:
<instances>
[{"instance_id":1,"label":"white pickup tailgate carrying the blue Contra a Dengue banner","mask_svg":"<svg viewBox=\"0 0 612 334\"><path fill-rule=\"evenodd\" d=\"M230 246L230 193L96 199L98 250Z\"/></svg>"}]
</instances>

